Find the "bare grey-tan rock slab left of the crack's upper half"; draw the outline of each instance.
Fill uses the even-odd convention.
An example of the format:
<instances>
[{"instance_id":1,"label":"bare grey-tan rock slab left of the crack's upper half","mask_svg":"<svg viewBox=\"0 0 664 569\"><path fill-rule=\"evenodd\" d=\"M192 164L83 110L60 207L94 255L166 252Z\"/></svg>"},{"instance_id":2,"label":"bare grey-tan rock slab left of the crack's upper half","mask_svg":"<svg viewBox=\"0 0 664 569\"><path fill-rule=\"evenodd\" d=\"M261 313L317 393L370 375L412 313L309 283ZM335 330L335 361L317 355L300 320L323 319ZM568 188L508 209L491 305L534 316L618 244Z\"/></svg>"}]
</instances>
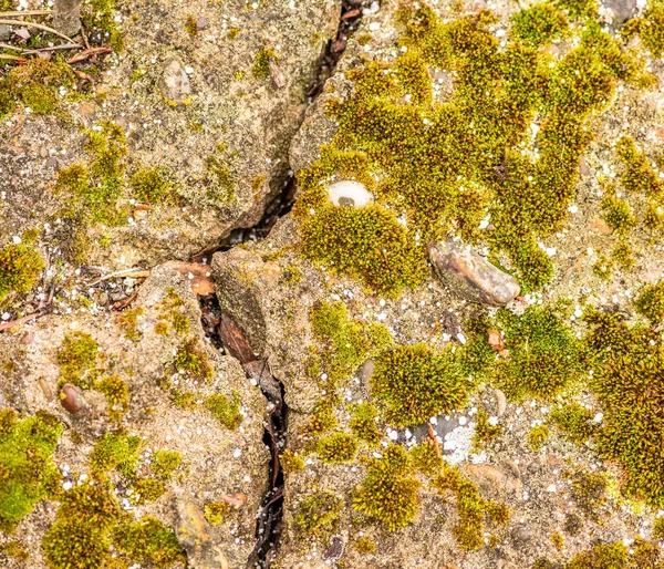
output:
<instances>
[{"instance_id":1,"label":"bare grey-tan rock slab left of the crack's upper half","mask_svg":"<svg viewBox=\"0 0 664 569\"><path fill-rule=\"evenodd\" d=\"M183 259L232 228L255 225L283 188L290 139L307 108L305 90L339 19L334 0L290 4L118 3L126 48L104 60L96 96L63 103L61 118L28 114L19 105L2 123L0 246L27 229L41 231L44 224L51 230L42 244L50 245L62 205L53 193L55 175L87 163L80 130L105 120L128 137L120 204L139 201L128 179L141 167L164 168L176 199L134 210L133 219L117 228L91 227L91 262L125 268ZM186 28L191 14L207 21L194 37ZM266 65L278 69L281 87L272 85L269 70L263 73L261 53ZM166 89L164 75L174 61L179 63L170 73L178 76ZM170 106L164 97L188 104ZM212 169L220 167L220 178L210 172L210 157L218 161ZM218 185L224 187L215 189ZM103 235L111 247L95 246Z\"/></svg>"}]
</instances>

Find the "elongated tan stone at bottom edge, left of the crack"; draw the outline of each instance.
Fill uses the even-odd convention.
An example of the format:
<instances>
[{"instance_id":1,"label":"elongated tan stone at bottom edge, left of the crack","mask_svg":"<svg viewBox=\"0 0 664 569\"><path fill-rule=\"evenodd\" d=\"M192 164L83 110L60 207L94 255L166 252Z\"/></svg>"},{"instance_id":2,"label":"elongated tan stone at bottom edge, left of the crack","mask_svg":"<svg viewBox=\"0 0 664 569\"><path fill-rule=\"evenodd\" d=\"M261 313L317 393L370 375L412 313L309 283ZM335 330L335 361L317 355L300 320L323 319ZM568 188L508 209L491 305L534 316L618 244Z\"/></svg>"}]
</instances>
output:
<instances>
[{"instance_id":1,"label":"elongated tan stone at bottom edge, left of the crack","mask_svg":"<svg viewBox=\"0 0 664 569\"><path fill-rule=\"evenodd\" d=\"M187 551L191 569L228 569L226 556L212 544L200 508L193 501L177 501L177 539Z\"/></svg>"}]
</instances>

